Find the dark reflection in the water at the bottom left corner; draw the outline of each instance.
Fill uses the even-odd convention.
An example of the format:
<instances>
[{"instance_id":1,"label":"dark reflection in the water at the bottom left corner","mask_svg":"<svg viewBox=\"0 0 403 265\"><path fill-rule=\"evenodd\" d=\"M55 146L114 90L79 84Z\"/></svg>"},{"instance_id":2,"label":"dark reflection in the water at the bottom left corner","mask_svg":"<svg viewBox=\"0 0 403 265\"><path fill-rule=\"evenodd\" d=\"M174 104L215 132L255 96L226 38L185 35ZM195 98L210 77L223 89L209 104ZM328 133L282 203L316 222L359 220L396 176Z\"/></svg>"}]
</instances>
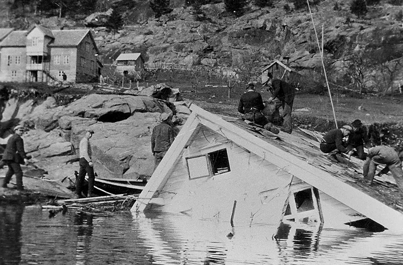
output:
<instances>
[{"instance_id":1,"label":"dark reflection in the water at the bottom left corner","mask_svg":"<svg viewBox=\"0 0 403 265\"><path fill-rule=\"evenodd\" d=\"M0 205L0 264L21 261L21 220L24 207Z\"/></svg>"}]
</instances>

